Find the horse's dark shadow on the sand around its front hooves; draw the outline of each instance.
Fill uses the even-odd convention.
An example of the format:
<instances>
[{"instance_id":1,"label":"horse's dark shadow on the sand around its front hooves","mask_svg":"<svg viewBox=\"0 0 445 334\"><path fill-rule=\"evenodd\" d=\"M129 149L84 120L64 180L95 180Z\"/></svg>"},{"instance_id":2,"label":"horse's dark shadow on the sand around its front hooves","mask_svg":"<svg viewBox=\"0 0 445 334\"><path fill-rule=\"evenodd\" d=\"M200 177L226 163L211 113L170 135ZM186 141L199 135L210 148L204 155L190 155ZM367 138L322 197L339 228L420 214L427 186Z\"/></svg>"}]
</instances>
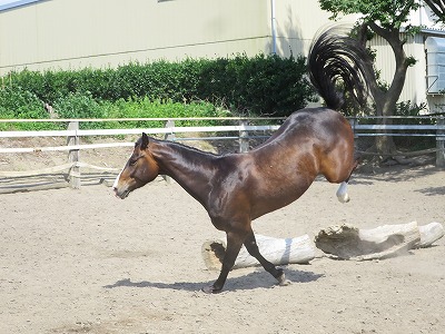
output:
<instances>
[{"instance_id":1,"label":"horse's dark shadow on the sand around its front hooves","mask_svg":"<svg viewBox=\"0 0 445 334\"><path fill-rule=\"evenodd\" d=\"M323 277L323 274L315 274L313 272L291 271L286 269L286 277L291 283L310 283ZM105 288L117 287L154 287L154 288L168 288L176 291L200 291L204 286L212 282L176 282L176 283L160 283L160 282L131 282L131 278L123 278L113 284L105 285ZM225 291L243 291L255 288L267 288L275 286L276 281L266 272L254 272L240 277L228 278L225 284Z\"/></svg>"}]
</instances>

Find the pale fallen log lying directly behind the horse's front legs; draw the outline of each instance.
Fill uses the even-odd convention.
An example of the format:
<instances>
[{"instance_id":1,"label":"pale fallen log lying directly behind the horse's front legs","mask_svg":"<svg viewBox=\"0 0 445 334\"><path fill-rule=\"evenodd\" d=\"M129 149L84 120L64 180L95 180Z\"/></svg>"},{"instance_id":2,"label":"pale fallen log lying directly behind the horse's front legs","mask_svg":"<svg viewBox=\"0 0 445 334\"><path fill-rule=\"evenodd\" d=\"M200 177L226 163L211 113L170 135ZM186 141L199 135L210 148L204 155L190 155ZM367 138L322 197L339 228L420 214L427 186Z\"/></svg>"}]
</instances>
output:
<instances>
[{"instance_id":1,"label":"pale fallen log lying directly behind the horse's front legs","mask_svg":"<svg viewBox=\"0 0 445 334\"><path fill-rule=\"evenodd\" d=\"M263 256L274 265L307 264L315 257L316 249L308 235L286 239L256 235L256 239ZM202 244L201 255L208 269L221 268L226 247L225 239L207 240ZM234 268L255 265L259 265L258 261L243 246Z\"/></svg>"}]
</instances>

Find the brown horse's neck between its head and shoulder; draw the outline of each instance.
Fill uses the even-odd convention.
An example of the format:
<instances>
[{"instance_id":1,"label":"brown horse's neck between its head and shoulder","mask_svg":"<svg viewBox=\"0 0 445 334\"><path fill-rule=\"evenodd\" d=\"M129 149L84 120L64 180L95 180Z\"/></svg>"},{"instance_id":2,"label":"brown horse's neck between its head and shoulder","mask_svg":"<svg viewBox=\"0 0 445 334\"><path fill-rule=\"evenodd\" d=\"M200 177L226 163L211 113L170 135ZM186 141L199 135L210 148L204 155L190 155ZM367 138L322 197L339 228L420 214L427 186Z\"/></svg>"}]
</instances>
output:
<instances>
[{"instance_id":1,"label":"brown horse's neck between its head and shoulder","mask_svg":"<svg viewBox=\"0 0 445 334\"><path fill-rule=\"evenodd\" d=\"M160 167L159 174L174 178L187 193L205 205L214 176L215 155L170 141L158 143L154 156Z\"/></svg>"}]
</instances>

